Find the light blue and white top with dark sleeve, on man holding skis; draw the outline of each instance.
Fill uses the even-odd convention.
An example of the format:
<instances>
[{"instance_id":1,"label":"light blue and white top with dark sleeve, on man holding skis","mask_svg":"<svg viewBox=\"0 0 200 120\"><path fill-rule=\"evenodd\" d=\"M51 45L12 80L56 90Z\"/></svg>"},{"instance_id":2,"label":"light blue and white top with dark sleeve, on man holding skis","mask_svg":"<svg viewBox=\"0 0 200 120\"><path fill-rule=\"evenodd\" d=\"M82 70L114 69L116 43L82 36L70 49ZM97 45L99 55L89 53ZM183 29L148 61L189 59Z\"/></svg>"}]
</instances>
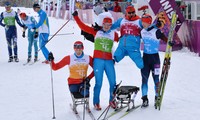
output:
<instances>
[{"instance_id":1,"label":"light blue and white top with dark sleeve, on man holding skis","mask_svg":"<svg viewBox=\"0 0 200 120\"><path fill-rule=\"evenodd\" d=\"M156 26L150 26L142 29L141 37L144 42L144 53L155 54L158 53L160 39L163 38L163 33ZM166 40L164 40L167 42Z\"/></svg>"}]
</instances>

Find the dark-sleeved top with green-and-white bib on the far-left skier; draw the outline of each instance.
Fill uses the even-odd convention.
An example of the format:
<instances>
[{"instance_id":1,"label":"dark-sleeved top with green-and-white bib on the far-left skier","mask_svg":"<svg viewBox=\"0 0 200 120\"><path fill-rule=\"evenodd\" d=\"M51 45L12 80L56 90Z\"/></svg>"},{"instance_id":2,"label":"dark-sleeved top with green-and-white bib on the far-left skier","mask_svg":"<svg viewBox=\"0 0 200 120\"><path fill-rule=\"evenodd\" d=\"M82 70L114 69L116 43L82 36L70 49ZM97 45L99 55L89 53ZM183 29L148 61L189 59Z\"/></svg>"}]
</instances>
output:
<instances>
[{"instance_id":1,"label":"dark-sleeved top with green-and-white bib on the far-left skier","mask_svg":"<svg viewBox=\"0 0 200 120\"><path fill-rule=\"evenodd\" d=\"M17 12L15 12L13 9L11 9L11 11L4 11L1 13L0 16L0 25L3 27L7 27L8 29L10 28L15 28L15 20L16 22L19 24L19 26L23 27L23 25L21 24L19 17L17 15ZM2 23L2 21L4 23Z\"/></svg>"}]
</instances>

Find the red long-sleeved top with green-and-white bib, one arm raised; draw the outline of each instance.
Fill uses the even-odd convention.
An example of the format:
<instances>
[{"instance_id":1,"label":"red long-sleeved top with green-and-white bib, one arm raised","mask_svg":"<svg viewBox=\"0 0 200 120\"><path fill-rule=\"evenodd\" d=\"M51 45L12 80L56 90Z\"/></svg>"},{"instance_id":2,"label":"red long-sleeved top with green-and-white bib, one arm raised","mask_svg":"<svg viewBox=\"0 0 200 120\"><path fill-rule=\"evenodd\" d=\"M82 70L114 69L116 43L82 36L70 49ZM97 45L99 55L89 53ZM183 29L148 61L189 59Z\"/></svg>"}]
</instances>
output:
<instances>
[{"instance_id":1,"label":"red long-sleeved top with green-and-white bib, one arm raised","mask_svg":"<svg viewBox=\"0 0 200 120\"><path fill-rule=\"evenodd\" d=\"M95 37L93 58L111 60L113 42L118 41L118 34L113 30L107 32L103 30L96 31L93 27L85 25L78 16L75 16L74 19L81 30Z\"/></svg>"}]
</instances>

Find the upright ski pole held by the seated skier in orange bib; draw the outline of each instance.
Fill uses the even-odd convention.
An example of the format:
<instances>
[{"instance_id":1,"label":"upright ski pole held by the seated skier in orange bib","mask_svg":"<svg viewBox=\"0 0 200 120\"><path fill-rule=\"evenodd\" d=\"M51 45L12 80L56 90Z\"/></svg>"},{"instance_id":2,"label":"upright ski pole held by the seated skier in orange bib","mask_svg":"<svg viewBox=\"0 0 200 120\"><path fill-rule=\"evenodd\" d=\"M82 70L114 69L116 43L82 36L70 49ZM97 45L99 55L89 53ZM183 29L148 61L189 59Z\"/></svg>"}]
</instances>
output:
<instances>
[{"instance_id":1,"label":"upright ski pole held by the seated skier in orange bib","mask_svg":"<svg viewBox=\"0 0 200 120\"><path fill-rule=\"evenodd\" d=\"M52 61L50 62L50 67L51 67L51 93L52 93L52 107L53 107L53 117L52 117L52 119L56 119L56 116L55 116L55 105L54 105Z\"/></svg>"}]
</instances>

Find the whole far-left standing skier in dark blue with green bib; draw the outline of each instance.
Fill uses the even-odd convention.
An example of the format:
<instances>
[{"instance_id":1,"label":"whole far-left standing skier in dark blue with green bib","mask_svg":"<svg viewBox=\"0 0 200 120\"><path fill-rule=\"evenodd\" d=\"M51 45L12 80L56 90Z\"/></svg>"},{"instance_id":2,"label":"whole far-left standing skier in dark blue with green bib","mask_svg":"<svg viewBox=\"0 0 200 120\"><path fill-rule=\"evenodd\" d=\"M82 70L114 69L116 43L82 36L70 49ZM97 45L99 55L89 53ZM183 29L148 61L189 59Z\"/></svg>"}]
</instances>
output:
<instances>
[{"instance_id":1,"label":"whole far-left standing skier in dark blue with green bib","mask_svg":"<svg viewBox=\"0 0 200 120\"><path fill-rule=\"evenodd\" d=\"M10 2L5 2L5 9L6 11L2 12L0 16L0 25L5 28L6 40L8 44L8 53L9 53L8 62L13 61L12 46L14 51L14 60L15 62L19 62L18 52L17 52L17 28L15 25L15 21L18 23L19 26L21 27L24 26L21 24L17 12L11 9Z\"/></svg>"}]
</instances>

